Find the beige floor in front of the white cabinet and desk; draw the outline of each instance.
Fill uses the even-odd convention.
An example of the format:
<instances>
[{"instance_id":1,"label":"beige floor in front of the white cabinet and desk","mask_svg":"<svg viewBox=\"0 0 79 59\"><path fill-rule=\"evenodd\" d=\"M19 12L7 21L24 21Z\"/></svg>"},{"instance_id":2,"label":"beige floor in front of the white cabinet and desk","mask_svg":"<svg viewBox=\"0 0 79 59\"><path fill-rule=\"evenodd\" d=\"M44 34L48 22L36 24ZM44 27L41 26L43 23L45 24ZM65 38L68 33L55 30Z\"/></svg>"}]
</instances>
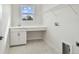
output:
<instances>
[{"instance_id":1,"label":"beige floor in front of the white cabinet and desk","mask_svg":"<svg viewBox=\"0 0 79 59\"><path fill-rule=\"evenodd\" d=\"M27 45L10 47L10 54L54 54L54 50L43 40L31 40Z\"/></svg>"}]
</instances>

